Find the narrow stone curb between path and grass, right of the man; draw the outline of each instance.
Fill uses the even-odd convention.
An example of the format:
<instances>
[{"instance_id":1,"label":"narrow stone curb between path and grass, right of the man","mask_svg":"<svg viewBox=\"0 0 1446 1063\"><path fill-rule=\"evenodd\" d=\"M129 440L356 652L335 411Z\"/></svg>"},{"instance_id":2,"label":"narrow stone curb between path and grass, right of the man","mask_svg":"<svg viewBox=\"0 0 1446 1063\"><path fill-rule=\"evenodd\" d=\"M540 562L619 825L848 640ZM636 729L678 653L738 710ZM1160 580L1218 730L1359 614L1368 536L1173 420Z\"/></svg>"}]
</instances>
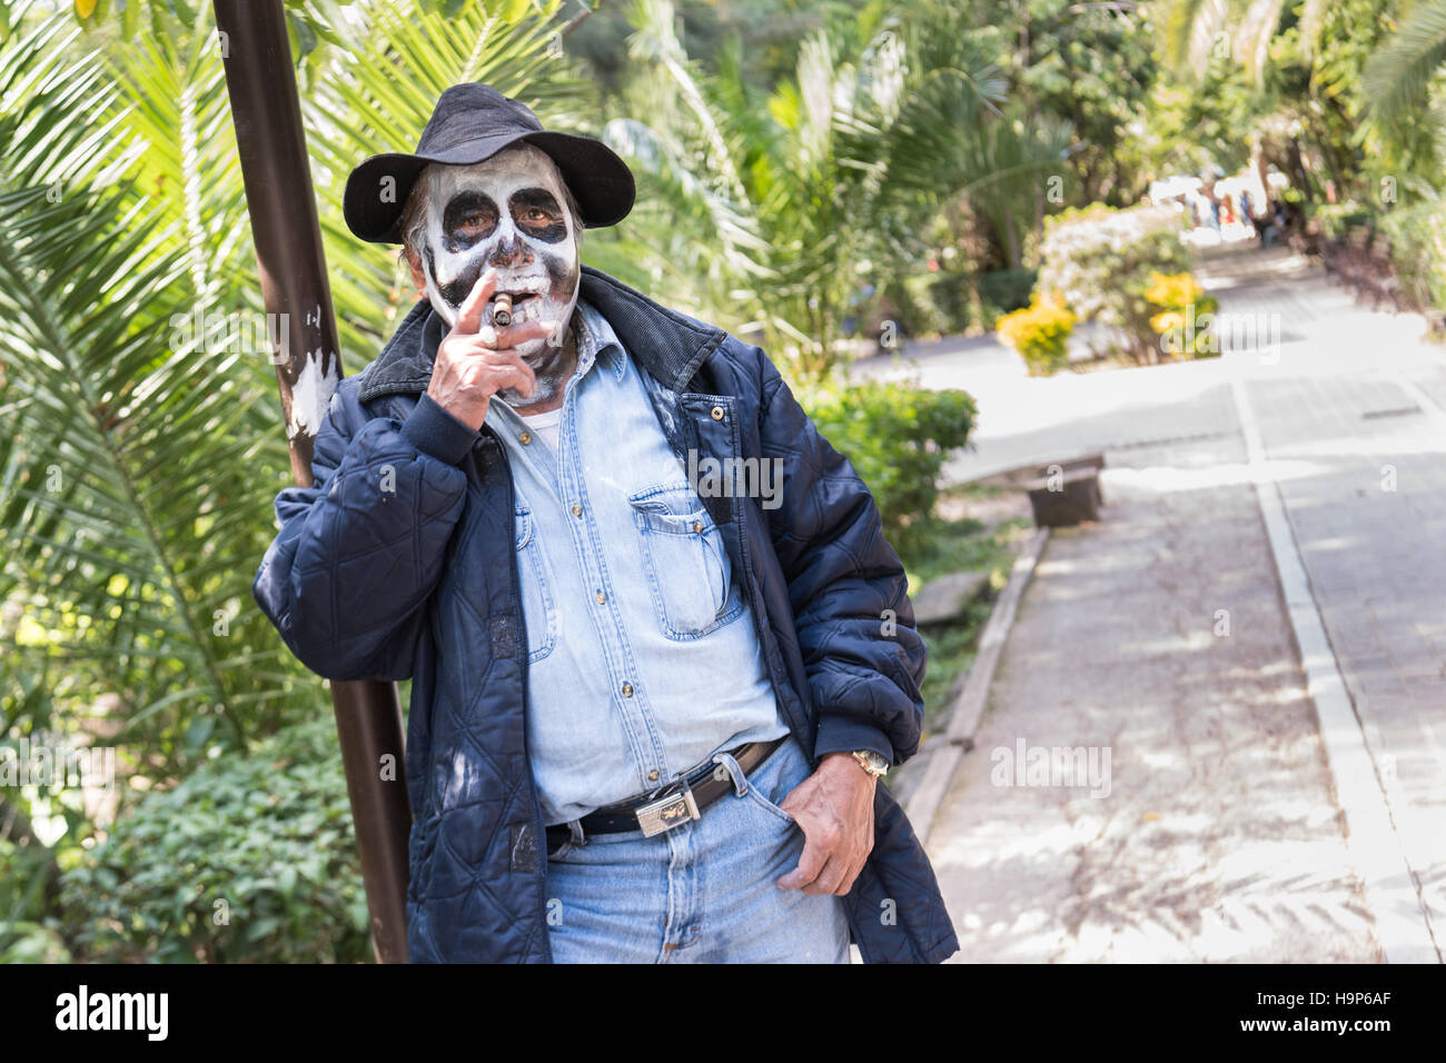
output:
<instances>
[{"instance_id":1,"label":"narrow stone curb between path and grass, right of the man","mask_svg":"<svg viewBox=\"0 0 1446 1063\"><path fill-rule=\"evenodd\" d=\"M1040 564L1040 555L1044 552L1044 544L1048 542L1048 528L1037 528L1019 557L1015 558L1014 567L1009 570L1009 581L995 602L983 633L979 636L975 667L969 670L969 680L949 710L949 726L933 736L933 742L941 742L943 746L924 765L924 777L904 806L904 814L914 824L914 833L918 834L921 843L928 843L934 813L938 811L938 806L944 800L954 768L960 758L975 748L975 732L979 729L979 720L989 701L989 687L993 683L995 670L999 667L1005 639L1009 636L1009 629L1014 628L1014 618L1019 612L1024 589L1034 577L1034 570Z\"/></svg>"}]
</instances>

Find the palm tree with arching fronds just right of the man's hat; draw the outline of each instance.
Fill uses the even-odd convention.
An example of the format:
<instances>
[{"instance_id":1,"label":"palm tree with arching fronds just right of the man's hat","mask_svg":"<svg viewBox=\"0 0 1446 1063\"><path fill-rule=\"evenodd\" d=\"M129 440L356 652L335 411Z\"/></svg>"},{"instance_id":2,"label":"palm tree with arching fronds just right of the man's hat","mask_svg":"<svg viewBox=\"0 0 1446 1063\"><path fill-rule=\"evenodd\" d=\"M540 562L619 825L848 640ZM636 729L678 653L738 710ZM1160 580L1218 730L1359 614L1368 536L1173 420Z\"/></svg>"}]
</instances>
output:
<instances>
[{"instance_id":1,"label":"palm tree with arching fronds just right of the man's hat","mask_svg":"<svg viewBox=\"0 0 1446 1063\"><path fill-rule=\"evenodd\" d=\"M606 129L678 218L654 257L681 265L669 279L722 324L791 351L803 377L836 363L866 281L917 269L943 205L967 195L1002 229L1032 218L1030 179L1061 158L1058 123L1002 111L1004 81L973 45L967 12L910 13L873 3L816 30L794 77L765 97L736 49L713 74L690 62L668 0L630 12L629 110L648 120Z\"/></svg>"}]
</instances>

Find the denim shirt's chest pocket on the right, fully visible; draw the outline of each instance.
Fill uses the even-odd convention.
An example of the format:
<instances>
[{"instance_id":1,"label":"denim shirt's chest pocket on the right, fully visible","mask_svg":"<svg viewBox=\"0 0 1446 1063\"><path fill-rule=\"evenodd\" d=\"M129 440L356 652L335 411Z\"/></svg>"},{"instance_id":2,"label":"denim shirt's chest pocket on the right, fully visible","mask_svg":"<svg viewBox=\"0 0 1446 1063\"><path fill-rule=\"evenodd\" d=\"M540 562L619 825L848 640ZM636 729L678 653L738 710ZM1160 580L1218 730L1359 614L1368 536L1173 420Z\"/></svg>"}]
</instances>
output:
<instances>
[{"instance_id":1,"label":"denim shirt's chest pocket on the right, fully visible","mask_svg":"<svg viewBox=\"0 0 1446 1063\"><path fill-rule=\"evenodd\" d=\"M628 503L662 633L687 642L736 619L743 599L733 587L723 532L693 489L658 484L629 495Z\"/></svg>"}]
</instances>

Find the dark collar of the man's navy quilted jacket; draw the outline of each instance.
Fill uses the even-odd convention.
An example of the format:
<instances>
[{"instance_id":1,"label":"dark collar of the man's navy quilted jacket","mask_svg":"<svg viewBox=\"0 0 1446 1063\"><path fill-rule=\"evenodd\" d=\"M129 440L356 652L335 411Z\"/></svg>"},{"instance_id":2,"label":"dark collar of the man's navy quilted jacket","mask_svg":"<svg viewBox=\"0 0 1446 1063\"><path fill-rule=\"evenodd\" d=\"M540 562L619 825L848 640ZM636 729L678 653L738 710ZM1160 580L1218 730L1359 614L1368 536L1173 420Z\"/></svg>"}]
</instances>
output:
<instances>
[{"instance_id":1,"label":"dark collar of the man's navy quilted jacket","mask_svg":"<svg viewBox=\"0 0 1446 1063\"><path fill-rule=\"evenodd\" d=\"M583 266L578 296L607 318L619 341L652 377L674 392L687 390L704 359L727 336L716 325L668 309L635 288L593 266ZM432 379L437 344L445 323L431 302L419 299L402 318L382 353L363 372L359 402L382 395L415 395Z\"/></svg>"}]
</instances>

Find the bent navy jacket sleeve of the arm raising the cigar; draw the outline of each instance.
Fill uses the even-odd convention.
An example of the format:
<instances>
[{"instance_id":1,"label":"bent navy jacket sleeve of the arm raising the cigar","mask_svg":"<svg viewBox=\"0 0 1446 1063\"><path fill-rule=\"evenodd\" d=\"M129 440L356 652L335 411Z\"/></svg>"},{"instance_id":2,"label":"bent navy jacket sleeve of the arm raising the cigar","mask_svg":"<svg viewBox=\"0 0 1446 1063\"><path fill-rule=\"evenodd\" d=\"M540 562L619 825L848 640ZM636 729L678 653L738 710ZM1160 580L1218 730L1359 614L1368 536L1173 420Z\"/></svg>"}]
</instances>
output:
<instances>
[{"instance_id":1,"label":"bent navy jacket sleeve of the arm raising the cigar","mask_svg":"<svg viewBox=\"0 0 1446 1063\"><path fill-rule=\"evenodd\" d=\"M405 422L366 419L343 380L317 432L311 487L276 496L281 531L252 594L291 651L328 680L412 674L427 600L480 438L428 395Z\"/></svg>"}]
</instances>

